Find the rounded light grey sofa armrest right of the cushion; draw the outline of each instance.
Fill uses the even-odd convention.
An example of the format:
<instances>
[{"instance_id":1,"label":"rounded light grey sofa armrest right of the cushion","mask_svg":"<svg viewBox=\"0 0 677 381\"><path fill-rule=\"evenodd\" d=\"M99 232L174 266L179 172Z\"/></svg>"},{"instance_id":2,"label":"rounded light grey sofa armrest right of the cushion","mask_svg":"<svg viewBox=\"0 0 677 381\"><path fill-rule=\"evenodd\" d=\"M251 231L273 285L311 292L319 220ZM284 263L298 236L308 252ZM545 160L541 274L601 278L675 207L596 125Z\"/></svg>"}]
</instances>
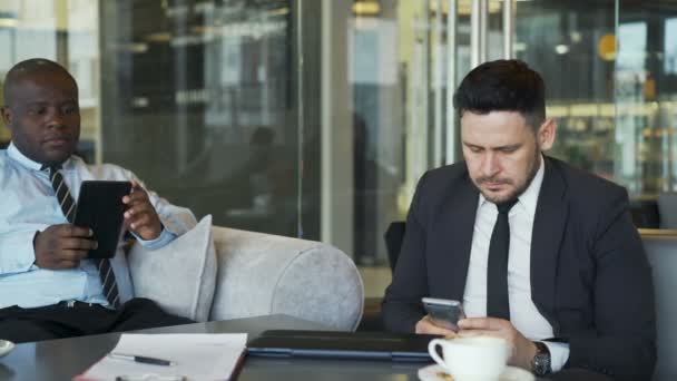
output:
<instances>
[{"instance_id":1,"label":"rounded light grey sofa armrest right of the cushion","mask_svg":"<svg viewBox=\"0 0 677 381\"><path fill-rule=\"evenodd\" d=\"M354 330L364 287L352 260L318 242L213 228L218 280L212 320L287 314Z\"/></svg>"}]
</instances>

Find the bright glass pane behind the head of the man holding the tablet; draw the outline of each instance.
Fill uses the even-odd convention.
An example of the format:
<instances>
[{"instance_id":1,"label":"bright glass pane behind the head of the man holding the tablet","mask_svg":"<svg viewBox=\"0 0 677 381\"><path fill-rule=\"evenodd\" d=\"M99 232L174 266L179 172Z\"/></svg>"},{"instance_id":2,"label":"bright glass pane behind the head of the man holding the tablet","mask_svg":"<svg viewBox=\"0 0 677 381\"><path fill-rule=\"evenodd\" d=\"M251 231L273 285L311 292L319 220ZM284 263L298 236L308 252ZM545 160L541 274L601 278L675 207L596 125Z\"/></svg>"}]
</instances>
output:
<instances>
[{"instance_id":1,"label":"bright glass pane behind the head of the man holding the tablet","mask_svg":"<svg viewBox=\"0 0 677 381\"><path fill-rule=\"evenodd\" d=\"M97 0L0 2L0 45L4 48L1 80L14 63L28 58L48 58L68 68L80 90L82 130L78 150L90 163L101 147L98 20ZM1 127L0 146L7 146L10 139L9 130Z\"/></svg>"}]
</instances>

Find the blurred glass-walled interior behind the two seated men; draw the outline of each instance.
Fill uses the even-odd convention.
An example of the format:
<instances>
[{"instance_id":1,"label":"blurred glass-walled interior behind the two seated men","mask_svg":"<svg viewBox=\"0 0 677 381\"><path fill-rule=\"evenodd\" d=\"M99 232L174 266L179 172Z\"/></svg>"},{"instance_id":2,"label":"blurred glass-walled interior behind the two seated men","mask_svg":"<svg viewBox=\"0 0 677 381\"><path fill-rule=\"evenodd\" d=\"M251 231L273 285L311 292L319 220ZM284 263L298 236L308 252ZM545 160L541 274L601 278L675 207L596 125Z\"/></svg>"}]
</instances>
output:
<instances>
[{"instance_id":1,"label":"blurred glass-walled interior behind the two seated men","mask_svg":"<svg viewBox=\"0 0 677 381\"><path fill-rule=\"evenodd\" d=\"M677 226L677 0L0 0L0 46L2 78L31 57L75 76L86 160L331 243L367 296L419 177L460 159L453 89L507 53L546 79L551 154L626 186L638 227Z\"/></svg>"}]
</instances>

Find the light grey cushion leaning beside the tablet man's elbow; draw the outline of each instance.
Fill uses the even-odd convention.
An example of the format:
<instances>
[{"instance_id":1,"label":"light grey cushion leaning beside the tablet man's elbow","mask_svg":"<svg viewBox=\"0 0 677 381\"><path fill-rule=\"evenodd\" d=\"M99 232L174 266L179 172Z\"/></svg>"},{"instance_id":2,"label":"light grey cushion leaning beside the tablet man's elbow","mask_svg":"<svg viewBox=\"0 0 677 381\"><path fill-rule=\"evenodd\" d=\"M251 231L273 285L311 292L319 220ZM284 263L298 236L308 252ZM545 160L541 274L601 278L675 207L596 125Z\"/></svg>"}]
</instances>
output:
<instances>
[{"instance_id":1,"label":"light grey cushion leaning beside the tablet man's elbow","mask_svg":"<svg viewBox=\"0 0 677 381\"><path fill-rule=\"evenodd\" d=\"M151 299L179 316L207 320L216 282L210 215L158 250L135 244L128 261L135 296Z\"/></svg>"}]
</instances>

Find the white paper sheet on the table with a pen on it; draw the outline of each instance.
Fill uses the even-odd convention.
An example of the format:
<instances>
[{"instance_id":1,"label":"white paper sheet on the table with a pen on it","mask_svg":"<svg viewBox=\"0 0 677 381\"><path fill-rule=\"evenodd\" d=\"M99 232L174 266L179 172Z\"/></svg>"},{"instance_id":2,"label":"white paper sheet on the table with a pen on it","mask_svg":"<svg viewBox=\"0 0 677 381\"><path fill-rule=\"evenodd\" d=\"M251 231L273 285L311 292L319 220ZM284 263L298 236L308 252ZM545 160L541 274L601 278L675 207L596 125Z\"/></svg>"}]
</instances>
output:
<instances>
[{"instance_id":1,"label":"white paper sheet on the table with a pen on it","mask_svg":"<svg viewBox=\"0 0 677 381\"><path fill-rule=\"evenodd\" d=\"M153 365L105 356L76 381L112 380L228 380L244 356L246 333L120 335L112 353L128 353L176 362ZM155 377L154 377L155 375Z\"/></svg>"}]
</instances>

